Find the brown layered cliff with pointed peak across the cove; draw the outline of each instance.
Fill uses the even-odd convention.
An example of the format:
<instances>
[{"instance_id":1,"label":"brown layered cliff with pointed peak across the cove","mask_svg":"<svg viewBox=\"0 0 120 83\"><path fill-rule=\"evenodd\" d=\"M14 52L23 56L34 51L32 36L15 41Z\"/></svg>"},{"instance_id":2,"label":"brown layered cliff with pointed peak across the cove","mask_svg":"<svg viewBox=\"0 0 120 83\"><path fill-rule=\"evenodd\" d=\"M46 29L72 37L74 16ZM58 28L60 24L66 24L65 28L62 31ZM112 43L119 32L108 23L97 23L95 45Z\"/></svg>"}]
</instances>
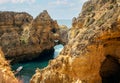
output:
<instances>
[{"instance_id":1,"label":"brown layered cliff with pointed peak across the cove","mask_svg":"<svg viewBox=\"0 0 120 83\"><path fill-rule=\"evenodd\" d=\"M31 60L53 49L57 30L57 22L46 10L35 19L24 12L0 12L0 46L13 62Z\"/></svg>"}]
</instances>

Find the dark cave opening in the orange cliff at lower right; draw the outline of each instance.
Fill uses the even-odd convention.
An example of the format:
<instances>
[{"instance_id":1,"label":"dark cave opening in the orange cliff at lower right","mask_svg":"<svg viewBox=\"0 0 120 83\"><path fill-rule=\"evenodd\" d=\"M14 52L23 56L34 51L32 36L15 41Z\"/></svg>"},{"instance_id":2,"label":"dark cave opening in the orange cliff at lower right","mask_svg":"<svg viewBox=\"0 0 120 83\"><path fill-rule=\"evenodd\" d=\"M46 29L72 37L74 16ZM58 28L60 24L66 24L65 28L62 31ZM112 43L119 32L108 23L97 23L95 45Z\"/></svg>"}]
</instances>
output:
<instances>
[{"instance_id":1,"label":"dark cave opening in the orange cliff at lower right","mask_svg":"<svg viewBox=\"0 0 120 83\"><path fill-rule=\"evenodd\" d=\"M120 63L119 61L107 55L100 70L102 83L120 83Z\"/></svg>"}]
</instances>

